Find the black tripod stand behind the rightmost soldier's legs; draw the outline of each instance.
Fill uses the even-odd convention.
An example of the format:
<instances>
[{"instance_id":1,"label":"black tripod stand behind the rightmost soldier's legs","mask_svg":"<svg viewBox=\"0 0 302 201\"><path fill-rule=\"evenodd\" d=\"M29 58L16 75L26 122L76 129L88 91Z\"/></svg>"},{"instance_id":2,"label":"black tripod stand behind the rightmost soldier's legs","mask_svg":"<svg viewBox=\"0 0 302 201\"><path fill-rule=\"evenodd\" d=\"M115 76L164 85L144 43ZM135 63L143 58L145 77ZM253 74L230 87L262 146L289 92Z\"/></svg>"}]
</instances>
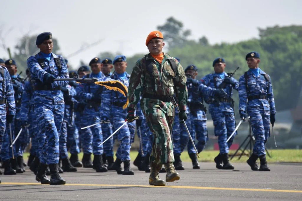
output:
<instances>
[{"instance_id":1,"label":"black tripod stand behind the rightmost soldier's legs","mask_svg":"<svg viewBox=\"0 0 302 201\"><path fill-rule=\"evenodd\" d=\"M238 160L240 160L240 158L242 157L242 155L246 155L246 156L250 157L252 155L252 153L253 153L253 146L255 145L255 138L254 138L253 133L252 133L251 121L249 119L248 119L248 121L249 121L249 135L246 136L246 139L244 139L244 141L239 146L239 148L236 150L235 154L232 155L232 157L230 158L230 160L232 160L239 151L241 151L242 153L239 155ZM244 149L242 150L241 148L246 143L246 141L247 141L247 144L244 147ZM248 148L248 146L249 146L249 148ZM246 149L249 152L248 154L245 153ZM268 150L266 148L265 148L265 151L266 151L268 157L271 158L271 155L268 153Z\"/></svg>"}]
</instances>

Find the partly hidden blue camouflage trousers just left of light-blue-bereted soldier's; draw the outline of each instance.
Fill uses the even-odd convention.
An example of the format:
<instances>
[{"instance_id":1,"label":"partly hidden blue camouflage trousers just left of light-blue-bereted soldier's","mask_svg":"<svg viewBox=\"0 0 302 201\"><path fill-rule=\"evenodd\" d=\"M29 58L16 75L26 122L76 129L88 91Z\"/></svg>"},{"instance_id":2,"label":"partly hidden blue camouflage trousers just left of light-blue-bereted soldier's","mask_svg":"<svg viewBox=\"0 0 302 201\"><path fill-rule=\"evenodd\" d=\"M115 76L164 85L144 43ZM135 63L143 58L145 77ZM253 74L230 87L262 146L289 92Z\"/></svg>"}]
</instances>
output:
<instances>
[{"instance_id":1,"label":"partly hidden blue camouflage trousers just left of light-blue-bereted soldier's","mask_svg":"<svg viewBox=\"0 0 302 201\"><path fill-rule=\"evenodd\" d=\"M103 132L103 139L107 139L111 134L112 134L112 124L111 123L102 123L102 132ZM113 141L113 136L108 139L104 143L104 153L106 156L113 156L113 146L114 146L114 141Z\"/></svg>"}]
</instances>

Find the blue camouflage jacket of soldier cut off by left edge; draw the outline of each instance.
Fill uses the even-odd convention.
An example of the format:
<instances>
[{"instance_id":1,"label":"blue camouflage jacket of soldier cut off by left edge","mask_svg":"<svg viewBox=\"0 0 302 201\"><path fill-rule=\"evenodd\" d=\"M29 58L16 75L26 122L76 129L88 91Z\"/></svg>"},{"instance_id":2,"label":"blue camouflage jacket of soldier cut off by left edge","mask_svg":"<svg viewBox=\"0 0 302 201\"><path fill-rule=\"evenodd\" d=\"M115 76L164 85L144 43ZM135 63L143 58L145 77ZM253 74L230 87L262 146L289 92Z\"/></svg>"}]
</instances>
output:
<instances>
[{"instance_id":1,"label":"blue camouflage jacket of soldier cut off by left edge","mask_svg":"<svg viewBox=\"0 0 302 201\"><path fill-rule=\"evenodd\" d=\"M6 99L8 104L8 115L16 114L16 105L14 98L14 88L11 83L11 76L6 67L0 65L0 69L4 69L4 75L0 73L0 100ZM0 105L0 110L6 112L5 104Z\"/></svg>"}]
</instances>

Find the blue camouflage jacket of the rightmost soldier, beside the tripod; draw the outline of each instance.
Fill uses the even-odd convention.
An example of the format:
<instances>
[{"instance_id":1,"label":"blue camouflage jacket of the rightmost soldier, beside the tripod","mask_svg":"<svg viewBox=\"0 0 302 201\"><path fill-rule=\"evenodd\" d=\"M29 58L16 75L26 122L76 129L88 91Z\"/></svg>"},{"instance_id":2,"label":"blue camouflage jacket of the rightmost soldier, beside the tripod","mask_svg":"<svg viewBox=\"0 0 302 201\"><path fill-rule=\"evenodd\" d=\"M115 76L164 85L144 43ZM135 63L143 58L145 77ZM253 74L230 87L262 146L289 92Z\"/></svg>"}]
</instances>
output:
<instances>
[{"instance_id":1,"label":"blue camouflage jacket of the rightmost soldier, beside the tripod","mask_svg":"<svg viewBox=\"0 0 302 201\"><path fill-rule=\"evenodd\" d=\"M250 70L247 71L248 79L247 85L244 75L239 78L239 110L246 112L246 109L263 108L265 111L270 111L272 114L276 113L275 99L271 79L266 81L266 73L260 69L258 77L256 77ZM248 101L249 96L265 95L266 99L254 99Z\"/></svg>"}]
</instances>

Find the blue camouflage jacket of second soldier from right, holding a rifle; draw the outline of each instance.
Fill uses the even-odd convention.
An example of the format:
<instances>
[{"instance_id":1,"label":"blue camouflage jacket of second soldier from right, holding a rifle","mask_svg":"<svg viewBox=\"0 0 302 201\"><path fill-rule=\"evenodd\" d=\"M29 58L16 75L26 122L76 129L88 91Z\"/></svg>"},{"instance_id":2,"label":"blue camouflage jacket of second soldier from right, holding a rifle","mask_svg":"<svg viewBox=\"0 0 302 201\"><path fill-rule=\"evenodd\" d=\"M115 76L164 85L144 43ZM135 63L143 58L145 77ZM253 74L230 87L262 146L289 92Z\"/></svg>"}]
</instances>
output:
<instances>
[{"instance_id":1,"label":"blue camouflage jacket of second soldier from right, holding a rifle","mask_svg":"<svg viewBox=\"0 0 302 201\"><path fill-rule=\"evenodd\" d=\"M228 76L226 74L226 72L224 73L225 77ZM232 87L231 84L227 84L226 88L224 88L223 90L226 92L227 97L232 97L233 95L233 91L232 89L235 89L238 91L238 81L235 78L231 78L234 82L235 82L235 86ZM210 87L211 89L217 89L218 86L223 82L223 79L220 78L219 75L217 75L216 73L211 73L209 75L204 76L204 78L201 79L201 83ZM233 106L230 103L226 103L226 102L221 102L219 105L217 105L217 103L215 103L214 101L214 97L213 97L213 93L211 93L212 95L209 96L207 98L207 102L210 104L209 105L209 112L210 113L215 113L215 112L231 112L233 113Z\"/></svg>"}]
</instances>

